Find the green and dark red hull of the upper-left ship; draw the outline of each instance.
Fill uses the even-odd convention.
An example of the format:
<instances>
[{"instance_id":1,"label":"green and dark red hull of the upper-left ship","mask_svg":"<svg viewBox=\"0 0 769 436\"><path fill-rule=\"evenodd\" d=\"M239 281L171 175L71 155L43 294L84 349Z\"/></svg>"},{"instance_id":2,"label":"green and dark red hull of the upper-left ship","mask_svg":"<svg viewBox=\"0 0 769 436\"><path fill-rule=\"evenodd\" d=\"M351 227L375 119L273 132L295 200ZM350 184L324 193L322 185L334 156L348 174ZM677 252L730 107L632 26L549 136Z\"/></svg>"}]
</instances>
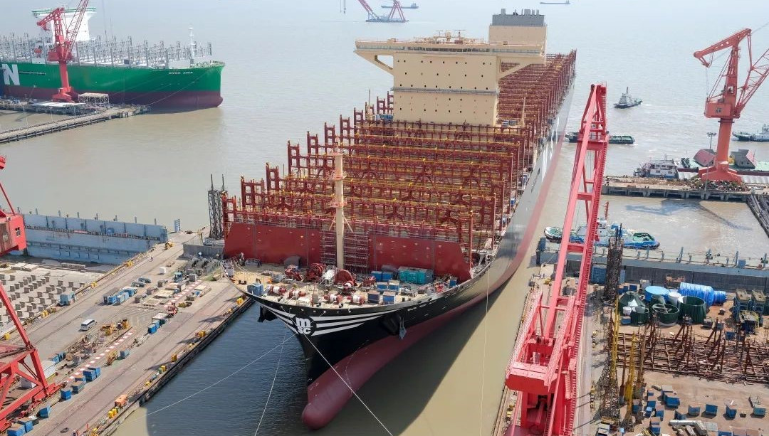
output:
<instances>
[{"instance_id":1,"label":"green and dark red hull of the upper-left ship","mask_svg":"<svg viewBox=\"0 0 769 436\"><path fill-rule=\"evenodd\" d=\"M68 65L77 93L109 94L112 104L201 109L221 104L221 70L211 62L190 68L131 68L121 65ZM2 68L0 94L48 100L61 87L58 64L8 61Z\"/></svg>"}]
</instances>

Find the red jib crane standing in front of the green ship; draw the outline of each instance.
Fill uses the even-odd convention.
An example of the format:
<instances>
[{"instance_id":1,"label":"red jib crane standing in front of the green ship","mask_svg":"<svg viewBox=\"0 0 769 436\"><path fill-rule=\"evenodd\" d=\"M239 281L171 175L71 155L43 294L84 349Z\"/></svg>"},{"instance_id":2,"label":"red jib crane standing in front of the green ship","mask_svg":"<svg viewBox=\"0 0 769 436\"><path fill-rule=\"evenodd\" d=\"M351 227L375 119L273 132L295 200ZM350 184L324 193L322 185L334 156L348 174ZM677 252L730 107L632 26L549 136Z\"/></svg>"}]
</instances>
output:
<instances>
[{"instance_id":1,"label":"red jib crane standing in front of the green ship","mask_svg":"<svg viewBox=\"0 0 769 436\"><path fill-rule=\"evenodd\" d=\"M72 59L72 46L75 45L75 39L80 31L80 23L83 21L85 8L88 8L88 0L80 0L78 8L75 9L75 15L69 24L65 23L65 8L59 7L45 15L38 26L43 30L48 30L48 23L53 21L54 44L51 51L48 52L48 61L58 61L58 74L62 78L62 88L53 95L54 101L71 102L74 95L72 86L69 84L69 74L67 73L67 61ZM66 26L66 30L65 30Z\"/></svg>"}]
</instances>

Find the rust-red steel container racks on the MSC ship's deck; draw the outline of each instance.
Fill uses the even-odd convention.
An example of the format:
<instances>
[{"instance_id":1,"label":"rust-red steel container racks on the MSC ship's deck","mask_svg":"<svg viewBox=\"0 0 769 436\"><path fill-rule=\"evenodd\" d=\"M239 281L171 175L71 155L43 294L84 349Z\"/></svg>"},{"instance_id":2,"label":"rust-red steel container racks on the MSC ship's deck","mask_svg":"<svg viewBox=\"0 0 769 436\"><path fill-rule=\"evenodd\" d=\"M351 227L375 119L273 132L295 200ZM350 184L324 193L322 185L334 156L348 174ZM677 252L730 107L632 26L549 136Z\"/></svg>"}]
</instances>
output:
<instances>
[{"instance_id":1,"label":"rust-red steel container racks on the MSC ship's deck","mask_svg":"<svg viewBox=\"0 0 769 436\"><path fill-rule=\"evenodd\" d=\"M392 250L381 246L416 240L412 265L469 279L514 211L538 152L535 138L549 134L574 59L574 52L548 55L545 64L502 79L496 125L393 120L388 94L321 134L308 132L303 145L289 141L285 172L266 164L264 179L241 177L239 198L222 197L225 255L334 263L333 153L341 150L345 268L368 272L394 263L386 253ZM243 223L253 230L237 226ZM234 229L243 234L228 237Z\"/></svg>"}]
</instances>

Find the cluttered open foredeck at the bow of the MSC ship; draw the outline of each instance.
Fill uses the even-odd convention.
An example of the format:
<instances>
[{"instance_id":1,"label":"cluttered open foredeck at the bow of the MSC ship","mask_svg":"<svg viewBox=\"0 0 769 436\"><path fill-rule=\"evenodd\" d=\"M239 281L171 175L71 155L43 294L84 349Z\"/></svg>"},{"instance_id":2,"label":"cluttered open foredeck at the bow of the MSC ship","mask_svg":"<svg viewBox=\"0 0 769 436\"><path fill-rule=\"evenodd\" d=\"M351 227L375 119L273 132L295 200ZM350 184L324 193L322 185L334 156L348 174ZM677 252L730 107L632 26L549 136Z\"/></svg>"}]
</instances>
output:
<instances>
[{"instance_id":1,"label":"cluttered open foredeck at the bow of the MSC ship","mask_svg":"<svg viewBox=\"0 0 769 436\"><path fill-rule=\"evenodd\" d=\"M265 293L261 296L273 302L280 302L288 306L314 306L320 309L339 309L343 304L345 309L371 308L388 306L400 302L414 301L427 298L437 292L437 288L448 289L448 280L438 279L427 285L416 285L409 282L398 282L398 289L377 289L377 286L353 286L345 289L345 286L324 284L321 282L299 282L289 279L283 272L284 267L277 264L262 264L261 266L240 266L233 278L236 283L261 282L265 286ZM238 285L238 289L246 291L245 284ZM368 292L394 292L393 302L368 302ZM341 298L341 299L340 299Z\"/></svg>"}]
</instances>

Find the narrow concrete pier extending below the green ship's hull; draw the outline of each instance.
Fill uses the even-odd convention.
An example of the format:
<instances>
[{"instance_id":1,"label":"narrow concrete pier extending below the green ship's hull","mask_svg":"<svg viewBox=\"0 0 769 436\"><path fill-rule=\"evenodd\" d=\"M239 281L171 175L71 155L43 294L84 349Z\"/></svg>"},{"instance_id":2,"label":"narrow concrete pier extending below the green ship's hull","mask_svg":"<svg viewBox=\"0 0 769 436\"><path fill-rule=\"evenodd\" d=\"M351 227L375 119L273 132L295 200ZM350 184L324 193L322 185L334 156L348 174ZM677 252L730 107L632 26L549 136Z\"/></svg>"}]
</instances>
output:
<instances>
[{"instance_id":1,"label":"narrow concrete pier extending below the green ship's hull","mask_svg":"<svg viewBox=\"0 0 769 436\"><path fill-rule=\"evenodd\" d=\"M89 110L82 104L45 104L46 102L28 103L22 101L0 100L0 111L42 112L45 114L62 114L72 116L63 120L48 121L32 126L18 127L12 130L0 132L0 144L6 144L16 140L37 137L44 134L52 134L75 127L88 126L101 123L113 118L126 118L150 111L149 106L125 106L109 107ZM48 102L50 103L50 102Z\"/></svg>"}]
</instances>

